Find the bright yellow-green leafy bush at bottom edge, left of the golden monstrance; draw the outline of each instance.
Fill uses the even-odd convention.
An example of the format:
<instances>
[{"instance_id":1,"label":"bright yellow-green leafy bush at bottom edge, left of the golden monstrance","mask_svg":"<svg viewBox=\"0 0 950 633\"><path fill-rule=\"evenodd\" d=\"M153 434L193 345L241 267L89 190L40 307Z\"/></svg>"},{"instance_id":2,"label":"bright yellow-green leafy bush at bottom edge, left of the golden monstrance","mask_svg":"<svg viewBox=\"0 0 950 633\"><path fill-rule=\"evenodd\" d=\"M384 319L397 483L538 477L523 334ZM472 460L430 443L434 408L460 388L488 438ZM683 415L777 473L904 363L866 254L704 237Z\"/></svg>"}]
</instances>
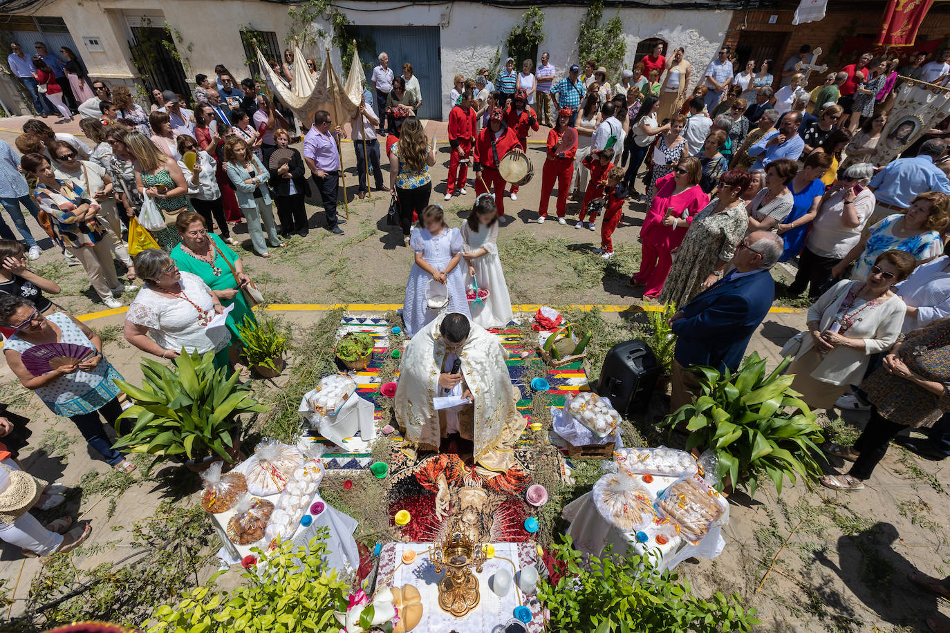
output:
<instances>
[{"instance_id":1,"label":"bright yellow-green leafy bush at bottom edge, left of the golden monstrance","mask_svg":"<svg viewBox=\"0 0 950 633\"><path fill-rule=\"evenodd\" d=\"M328 534L321 528L307 547L287 541L266 554L254 549L260 560L247 561L252 568L242 575L244 585L230 592L191 589L178 605L155 611L148 633L336 633L335 596L347 585L323 565Z\"/></svg>"}]
</instances>

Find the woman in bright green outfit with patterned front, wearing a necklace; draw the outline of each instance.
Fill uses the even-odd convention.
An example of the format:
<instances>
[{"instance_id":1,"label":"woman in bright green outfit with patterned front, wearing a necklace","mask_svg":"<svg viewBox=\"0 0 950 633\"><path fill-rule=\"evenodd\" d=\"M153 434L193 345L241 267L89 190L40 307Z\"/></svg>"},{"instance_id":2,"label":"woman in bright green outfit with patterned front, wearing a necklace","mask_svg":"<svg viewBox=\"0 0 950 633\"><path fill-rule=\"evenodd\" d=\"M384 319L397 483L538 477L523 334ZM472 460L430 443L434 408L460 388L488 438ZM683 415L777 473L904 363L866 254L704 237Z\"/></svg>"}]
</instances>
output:
<instances>
[{"instance_id":1,"label":"woman in bright green outfit with patterned front, wearing a necklace","mask_svg":"<svg viewBox=\"0 0 950 633\"><path fill-rule=\"evenodd\" d=\"M179 270L198 275L218 297L221 306L234 304L234 309L228 314L227 326L231 330L231 340L239 341L237 326L243 325L245 318L257 323L254 312L241 292L241 287L251 281L244 274L244 263L218 235L208 233L200 214L194 211L181 212L175 221L175 228L181 243L172 249L172 260Z\"/></svg>"}]
</instances>

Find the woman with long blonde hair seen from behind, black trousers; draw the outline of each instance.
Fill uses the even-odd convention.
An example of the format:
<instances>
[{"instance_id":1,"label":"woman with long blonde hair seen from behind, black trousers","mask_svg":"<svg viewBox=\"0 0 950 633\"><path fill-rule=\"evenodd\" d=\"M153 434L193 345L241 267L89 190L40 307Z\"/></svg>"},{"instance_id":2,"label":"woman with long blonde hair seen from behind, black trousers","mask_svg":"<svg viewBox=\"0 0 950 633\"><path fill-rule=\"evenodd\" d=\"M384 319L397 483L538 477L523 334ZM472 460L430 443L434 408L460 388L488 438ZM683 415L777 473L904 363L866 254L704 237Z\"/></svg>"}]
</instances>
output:
<instances>
[{"instance_id":1,"label":"woman with long blonde hair seen from behind, black trousers","mask_svg":"<svg viewBox=\"0 0 950 633\"><path fill-rule=\"evenodd\" d=\"M390 148L390 192L399 199L399 226L409 246L413 218L428 207L432 195L432 177L428 168L435 164L435 150L429 145L422 123L407 117L399 140Z\"/></svg>"}]
</instances>

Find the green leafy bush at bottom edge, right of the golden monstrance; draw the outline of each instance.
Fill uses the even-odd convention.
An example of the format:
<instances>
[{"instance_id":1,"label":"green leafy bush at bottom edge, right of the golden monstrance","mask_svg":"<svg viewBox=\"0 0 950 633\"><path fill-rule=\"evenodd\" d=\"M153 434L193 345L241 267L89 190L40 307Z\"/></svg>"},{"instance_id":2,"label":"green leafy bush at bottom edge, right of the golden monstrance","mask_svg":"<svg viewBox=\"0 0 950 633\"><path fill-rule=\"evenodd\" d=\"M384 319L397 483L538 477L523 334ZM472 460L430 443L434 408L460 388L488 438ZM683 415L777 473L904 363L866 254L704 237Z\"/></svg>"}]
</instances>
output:
<instances>
[{"instance_id":1,"label":"green leafy bush at bottom edge, right of the golden monstrance","mask_svg":"<svg viewBox=\"0 0 950 633\"><path fill-rule=\"evenodd\" d=\"M739 596L717 591L709 600L696 598L689 581L680 582L670 570L657 571L649 556L589 556L564 538L551 545L564 575L557 583L545 579L538 586L538 597L551 612L551 631L744 633L761 624Z\"/></svg>"}]
</instances>

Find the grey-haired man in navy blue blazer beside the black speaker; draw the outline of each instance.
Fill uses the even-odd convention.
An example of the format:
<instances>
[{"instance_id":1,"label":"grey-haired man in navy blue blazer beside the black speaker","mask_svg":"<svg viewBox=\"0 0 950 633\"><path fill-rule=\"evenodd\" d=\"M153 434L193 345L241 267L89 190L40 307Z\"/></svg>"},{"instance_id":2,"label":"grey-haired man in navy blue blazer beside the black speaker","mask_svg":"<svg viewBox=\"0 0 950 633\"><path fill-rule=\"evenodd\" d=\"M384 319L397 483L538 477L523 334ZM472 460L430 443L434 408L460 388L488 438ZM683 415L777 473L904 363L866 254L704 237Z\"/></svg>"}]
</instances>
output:
<instances>
[{"instance_id":1,"label":"grey-haired man in navy blue blazer beside the black speaker","mask_svg":"<svg viewBox=\"0 0 950 633\"><path fill-rule=\"evenodd\" d=\"M769 313L775 282L769 269L782 255L782 238L756 231L739 242L732 257L734 270L697 294L670 320L677 336L674 351L673 395L670 410L689 403L699 390L691 365L723 371L742 363L755 328Z\"/></svg>"}]
</instances>

